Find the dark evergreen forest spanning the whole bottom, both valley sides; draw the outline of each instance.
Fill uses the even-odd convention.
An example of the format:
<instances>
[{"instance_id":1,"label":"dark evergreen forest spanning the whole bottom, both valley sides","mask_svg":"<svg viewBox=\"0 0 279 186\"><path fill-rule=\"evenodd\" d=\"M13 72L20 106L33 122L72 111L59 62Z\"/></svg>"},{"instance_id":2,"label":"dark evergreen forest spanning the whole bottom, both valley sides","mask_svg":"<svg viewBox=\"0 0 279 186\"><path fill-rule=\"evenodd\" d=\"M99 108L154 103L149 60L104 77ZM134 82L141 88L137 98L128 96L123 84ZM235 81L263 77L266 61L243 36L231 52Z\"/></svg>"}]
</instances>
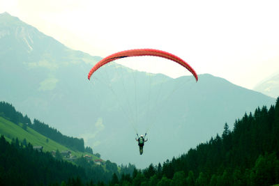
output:
<instances>
[{"instance_id":1,"label":"dark evergreen forest spanning the whole bottom, both valley sides","mask_svg":"<svg viewBox=\"0 0 279 186\"><path fill-rule=\"evenodd\" d=\"M75 163L57 160L17 139L9 144L2 136L0 185L275 185L278 136L279 98L269 109L245 113L232 130L225 123L223 134L146 169L120 167L109 160L99 166L83 157Z\"/></svg>"}]
</instances>

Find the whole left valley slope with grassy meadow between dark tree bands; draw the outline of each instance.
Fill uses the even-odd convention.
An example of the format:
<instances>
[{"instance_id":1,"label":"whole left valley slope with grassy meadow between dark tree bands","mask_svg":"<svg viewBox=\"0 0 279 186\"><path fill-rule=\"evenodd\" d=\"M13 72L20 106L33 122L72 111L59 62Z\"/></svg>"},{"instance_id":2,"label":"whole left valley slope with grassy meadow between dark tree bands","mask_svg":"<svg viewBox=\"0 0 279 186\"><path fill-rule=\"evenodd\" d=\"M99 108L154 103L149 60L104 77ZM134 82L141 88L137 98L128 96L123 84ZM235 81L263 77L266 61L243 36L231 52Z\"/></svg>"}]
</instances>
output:
<instances>
[{"instance_id":1,"label":"whole left valley slope with grassy meadow between dark tree bands","mask_svg":"<svg viewBox=\"0 0 279 186\"><path fill-rule=\"evenodd\" d=\"M40 134L40 128L48 137ZM7 102L0 102L0 135L0 185L103 184L113 174L129 175L135 169L132 164L118 166L100 160L100 154L84 148L83 139L67 137L36 119L31 123ZM43 152L33 146L42 146ZM70 158L62 157L61 152L68 150Z\"/></svg>"}]
</instances>

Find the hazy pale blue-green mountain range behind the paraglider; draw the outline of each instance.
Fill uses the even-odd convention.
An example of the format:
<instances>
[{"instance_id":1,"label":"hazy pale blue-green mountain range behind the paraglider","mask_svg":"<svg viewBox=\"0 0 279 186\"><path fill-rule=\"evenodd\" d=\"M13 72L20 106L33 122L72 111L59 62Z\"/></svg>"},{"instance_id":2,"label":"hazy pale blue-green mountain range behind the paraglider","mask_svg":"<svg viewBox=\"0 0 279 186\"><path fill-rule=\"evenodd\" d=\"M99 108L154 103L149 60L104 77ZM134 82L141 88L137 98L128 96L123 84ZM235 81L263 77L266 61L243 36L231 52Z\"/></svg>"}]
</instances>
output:
<instances>
[{"instance_id":1,"label":"hazy pale blue-green mountain range behind the paraglider","mask_svg":"<svg viewBox=\"0 0 279 186\"><path fill-rule=\"evenodd\" d=\"M221 134L225 123L232 128L245 112L275 103L221 77L199 75L196 83L190 76L172 79L118 63L89 82L87 73L100 59L0 14L0 100L82 137L93 153L118 164L143 168L171 159ZM149 141L139 155L135 133L146 131Z\"/></svg>"}]
</instances>

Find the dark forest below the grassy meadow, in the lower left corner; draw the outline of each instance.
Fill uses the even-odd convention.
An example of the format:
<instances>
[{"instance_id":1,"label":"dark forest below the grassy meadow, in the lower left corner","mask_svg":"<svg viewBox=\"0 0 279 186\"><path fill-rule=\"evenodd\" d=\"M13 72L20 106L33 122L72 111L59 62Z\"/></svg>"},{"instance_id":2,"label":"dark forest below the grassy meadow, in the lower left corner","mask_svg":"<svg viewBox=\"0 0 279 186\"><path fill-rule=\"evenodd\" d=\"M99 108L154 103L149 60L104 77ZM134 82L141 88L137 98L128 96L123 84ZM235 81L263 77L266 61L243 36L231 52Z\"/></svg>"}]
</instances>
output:
<instances>
[{"instance_id":1,"label":"dark forest below the grassy meadow, in the lower left corner","mask_svg":"<svg viewBox=\"0 0 279 186\"><path fill-rule=\"evenodd\" d=\"M119 175L116 164L95 164L84 157L74 164L56 160L50 153L33 150L18 139L9 144L0 137L0 185L105 185L113 173ZM76 164L76 165L75 165Z\"/></svg>"}]
</instances>

